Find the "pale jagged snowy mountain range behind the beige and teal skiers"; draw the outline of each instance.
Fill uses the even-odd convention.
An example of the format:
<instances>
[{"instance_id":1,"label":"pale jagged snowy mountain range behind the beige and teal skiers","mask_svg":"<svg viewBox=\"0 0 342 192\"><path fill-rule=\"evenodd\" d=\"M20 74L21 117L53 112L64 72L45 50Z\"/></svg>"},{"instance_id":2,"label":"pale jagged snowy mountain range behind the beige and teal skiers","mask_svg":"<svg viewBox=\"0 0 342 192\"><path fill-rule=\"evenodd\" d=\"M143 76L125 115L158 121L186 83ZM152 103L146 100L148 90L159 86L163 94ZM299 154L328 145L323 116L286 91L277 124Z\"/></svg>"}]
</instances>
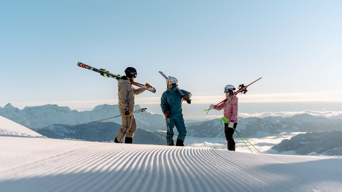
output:
<instances>
[{"instance_id":1,"label":"pale jagged snowy mountain range behind the beige and teal skiers","mask_svg":"<svg viewBox=\"0 0 342 192\"><path fill-rule=\"evenodd\" d=\"M135 105L135 109L141 109ZM147 109L148 110L148 109ZM53 124L79 125L97 120L102 120L119 115L118 105L98 105L92 111L71 110L69 107L57 105L43 105L35 107L25 107L20 110L7 104L0 108L0 115L21 124L28 128L43 128ZM151 112L141 112L135 114L136 124L139 128L149 131L164 130L164 116ZM121 117L107 120L106 122L121 123Z\"/></svg>"}]
</instances>

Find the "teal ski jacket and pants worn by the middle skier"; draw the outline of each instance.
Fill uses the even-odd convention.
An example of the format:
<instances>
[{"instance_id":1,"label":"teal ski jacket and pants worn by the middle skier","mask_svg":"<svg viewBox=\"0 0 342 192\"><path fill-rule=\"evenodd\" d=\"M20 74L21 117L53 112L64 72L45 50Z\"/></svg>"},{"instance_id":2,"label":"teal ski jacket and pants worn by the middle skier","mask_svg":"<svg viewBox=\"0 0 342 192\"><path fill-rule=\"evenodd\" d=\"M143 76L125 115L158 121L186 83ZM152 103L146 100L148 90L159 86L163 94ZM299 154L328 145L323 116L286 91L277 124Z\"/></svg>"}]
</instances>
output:
<instances>
[{"instance_id":1,"label":"teal ski jacket and pants worn by the middle skier","mask_svg":"<svg viewBox=\"0 0 342 192\"><path fill-rule=\"evenodd\" d=\"M191 97L190 92L185 90L181 91L184 94L187 94L188 98ZM163 114L167 112L171 115L169 119L165 118L166 126L168 127L166 134L167 145L170 145L171 140L173 140L174 126L176 126L179 133L177 139L184 141L187 131L182 113L182 95L177 91L177 87L173 87L172 89L167 88L162 94L160 102L160 107L163 111Z\"/></svg>"}]
</instances>

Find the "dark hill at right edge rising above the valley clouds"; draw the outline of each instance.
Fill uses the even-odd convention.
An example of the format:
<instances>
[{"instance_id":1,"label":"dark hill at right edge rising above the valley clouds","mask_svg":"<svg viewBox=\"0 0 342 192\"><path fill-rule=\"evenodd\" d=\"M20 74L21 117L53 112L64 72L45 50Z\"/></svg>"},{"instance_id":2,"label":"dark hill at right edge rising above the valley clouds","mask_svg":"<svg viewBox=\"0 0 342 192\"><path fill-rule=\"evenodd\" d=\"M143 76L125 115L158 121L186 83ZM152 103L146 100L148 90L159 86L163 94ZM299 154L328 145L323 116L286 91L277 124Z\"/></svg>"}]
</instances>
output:
<instances>
[{"instance_id":1,"label":"dark hill at right edge rising above the valley clouds","mask_svg":"<svg viewBox=\"0 0 342 192\"><path fill-rule=\"evenodd\" d=\"M318 153L321 155L342 155L342 131L298 134L282 140L272 149L278 152L295 151L299 155Z\"/></svg>"}]
</instances>

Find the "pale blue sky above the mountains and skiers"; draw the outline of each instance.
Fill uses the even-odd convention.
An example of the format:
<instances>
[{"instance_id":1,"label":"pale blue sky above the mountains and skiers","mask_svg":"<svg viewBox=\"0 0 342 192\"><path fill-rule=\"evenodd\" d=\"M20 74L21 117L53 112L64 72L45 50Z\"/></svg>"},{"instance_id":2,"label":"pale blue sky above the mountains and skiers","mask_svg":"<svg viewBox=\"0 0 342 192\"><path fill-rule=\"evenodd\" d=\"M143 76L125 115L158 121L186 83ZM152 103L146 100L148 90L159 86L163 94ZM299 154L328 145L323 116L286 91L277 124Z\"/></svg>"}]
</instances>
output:
<instances>
[{"instance_id":1,"label":"pale blue sky above the mountains and skiers","mask_svg":"<svg viewBox=\"0 0 342 192\"><path fill-rule=\"evenodd\" d=\"M342 102L341 10L342 1L333 0L4 0L0 106L57 103L91 110L117 104L116 80L77 67L80 61L121 75L135 67L136 81L157 89L137 96L138 103L149 97L158 101L166 90L158 73L163 71L193 94L194 107L221 101L216 96L227 84L248 84L262 76L239 96L247 111L283 111L284 104L306 98L337 110L333 106ZM246 107L266 101L274 108Z\"/></svg>"}]
</instances>

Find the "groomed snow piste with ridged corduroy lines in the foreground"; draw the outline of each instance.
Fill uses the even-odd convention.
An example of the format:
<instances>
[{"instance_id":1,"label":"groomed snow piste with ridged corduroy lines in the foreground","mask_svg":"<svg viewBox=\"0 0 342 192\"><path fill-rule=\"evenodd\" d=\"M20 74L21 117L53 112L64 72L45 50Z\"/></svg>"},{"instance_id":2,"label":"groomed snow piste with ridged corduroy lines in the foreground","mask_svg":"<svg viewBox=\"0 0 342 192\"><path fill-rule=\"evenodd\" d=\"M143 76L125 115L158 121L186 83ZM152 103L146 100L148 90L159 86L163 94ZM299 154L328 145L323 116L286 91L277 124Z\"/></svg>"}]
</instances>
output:
<instances>
[{"instance_id":1,"label":"groomed snow piste with ridged corduroy lines in the foreground","mask_svg":"<svg viewBox=\"0 0 342 192\"><path fill-rule=\"evenodd\" d=\"M43 140L34 140L40 141ZM27 145L30 142L33 141L27 140ZM39 149L32 148L32 153L16 155L17 158L29 159L27 163L11 163L9 160L14 160L14 157L2 157L1 162L6 163L0 164L0 191L336 191L342 188L341 177L337 181L305 181L307 173L315 169L312 165L316 164L312 162L328 159L326 157L67 142L75 145L74 149L59 149L57 154L53 154L56 151L49 151L49 147L44 146L40 151L46 152L47 157L38 155L34 161L32 159L39 154ZM83 145L85 143L86 146ZM16 148L20 146L14 146L13 150ZM279 166L285 169L279 169ZM336 172L341 171L341 167L337 168ZM323 174L323 177L328 174Z\"/></svg>"}]
</instances>

